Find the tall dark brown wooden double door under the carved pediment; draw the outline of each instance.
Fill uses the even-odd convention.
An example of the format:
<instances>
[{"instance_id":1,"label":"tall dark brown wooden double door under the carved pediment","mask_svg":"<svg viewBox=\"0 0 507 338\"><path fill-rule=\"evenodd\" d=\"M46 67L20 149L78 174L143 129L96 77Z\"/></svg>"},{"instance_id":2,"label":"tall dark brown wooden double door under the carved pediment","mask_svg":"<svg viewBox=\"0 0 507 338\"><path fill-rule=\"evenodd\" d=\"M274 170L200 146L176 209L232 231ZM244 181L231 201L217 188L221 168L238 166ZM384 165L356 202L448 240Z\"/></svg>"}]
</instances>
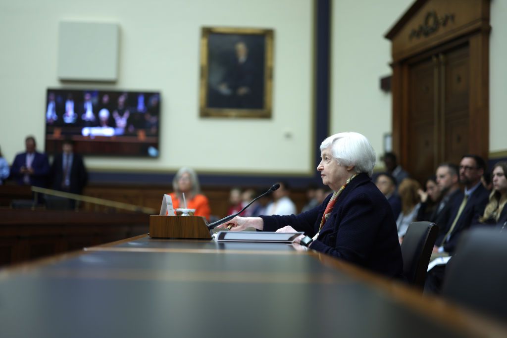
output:
<instances>
[{"instance_id":1,"label":"tall dark brown wooden double door under the carved pediment","mask_svg":"<svg viewBox=\"0 0 507 338\"><path fill-rule=\"evenodd\" d=\"M462 45L409 64L407 169L421 183L441 162L468 153L469 49Z\"/></svg>"}]
</instances>

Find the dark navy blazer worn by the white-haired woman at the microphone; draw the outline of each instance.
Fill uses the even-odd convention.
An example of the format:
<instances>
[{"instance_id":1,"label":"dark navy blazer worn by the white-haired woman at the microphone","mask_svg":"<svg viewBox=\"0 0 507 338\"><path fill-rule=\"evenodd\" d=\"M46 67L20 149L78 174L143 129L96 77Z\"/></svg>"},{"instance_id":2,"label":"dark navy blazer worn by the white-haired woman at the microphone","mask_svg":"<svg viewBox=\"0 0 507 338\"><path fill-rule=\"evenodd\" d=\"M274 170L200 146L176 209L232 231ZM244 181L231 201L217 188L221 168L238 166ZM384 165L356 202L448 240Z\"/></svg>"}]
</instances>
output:
<instances>
[{"instance_id":1,"label":"dark navy blazer worn by the white-haired woman at the microphone","mask_svg":"<svg viewBox=\"0 0 507 338\"><path fill-rule=\"evenodd\" d=\"M307 236L315 236L331 196L299 215L261 216L264 231L289 225ZM365 173L345 187L310 248L387 277L403 278L402 252L391 207Z\"/></svg>"}]
</instances>

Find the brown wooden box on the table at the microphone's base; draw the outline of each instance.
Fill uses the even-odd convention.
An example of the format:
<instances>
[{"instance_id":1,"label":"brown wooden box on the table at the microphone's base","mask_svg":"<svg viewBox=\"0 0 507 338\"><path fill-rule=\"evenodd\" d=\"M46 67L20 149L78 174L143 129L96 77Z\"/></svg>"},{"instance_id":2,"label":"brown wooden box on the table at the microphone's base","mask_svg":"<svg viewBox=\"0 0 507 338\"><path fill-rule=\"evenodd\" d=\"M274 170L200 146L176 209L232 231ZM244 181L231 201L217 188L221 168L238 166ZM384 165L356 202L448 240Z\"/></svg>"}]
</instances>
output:
<instances>
[{"instance_id":1,"label":"brown wooden box on the table at the microphone's base","mask_svg":"<svg viewBox=\"0 0 507 338\"><path fill-rule=\"evenodd\" d=\"M151 238L211 239L204 217L150 215Z\"/></svg>"}]
</instances>

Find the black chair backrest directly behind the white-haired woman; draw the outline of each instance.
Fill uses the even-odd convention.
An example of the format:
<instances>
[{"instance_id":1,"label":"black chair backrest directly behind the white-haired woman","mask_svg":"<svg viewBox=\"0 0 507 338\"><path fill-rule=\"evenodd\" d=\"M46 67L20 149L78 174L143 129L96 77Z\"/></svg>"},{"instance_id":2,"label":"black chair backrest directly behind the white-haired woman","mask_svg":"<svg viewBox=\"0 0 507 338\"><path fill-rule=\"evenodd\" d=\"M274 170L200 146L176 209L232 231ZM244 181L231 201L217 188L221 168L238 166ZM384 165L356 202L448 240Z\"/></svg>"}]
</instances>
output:
<instances>
[{"instance_id":1,"label":"black chair backrest directly behind the white-haired woman","mask_svg":"<svg viewBox=\"0 0 507 338\"><path fill-rule=\"evenodd\" d=\"M433 222L410 223L402 242L403 273L411 285L424 288L426 271L438 226Z\"/></svg>"}]
</instances>

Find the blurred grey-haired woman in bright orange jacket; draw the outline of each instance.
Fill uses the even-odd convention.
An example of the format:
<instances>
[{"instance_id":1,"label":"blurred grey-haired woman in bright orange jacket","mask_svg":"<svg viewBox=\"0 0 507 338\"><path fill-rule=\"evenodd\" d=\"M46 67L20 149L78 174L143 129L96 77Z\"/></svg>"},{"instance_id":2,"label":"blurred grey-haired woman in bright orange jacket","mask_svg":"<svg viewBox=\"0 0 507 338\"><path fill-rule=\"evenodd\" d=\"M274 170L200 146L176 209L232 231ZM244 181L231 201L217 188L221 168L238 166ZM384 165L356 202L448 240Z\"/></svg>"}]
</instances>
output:
<instances>
[{"instance_id":1,"label":"blurred grey-haired woman in bright orange jacket","mask_svg":"<svg viewBox=\"0 0 507 338\"><path fill-rule=\"evenodd\" d=\"M209 220L210 209L206 196L201 194L199 179L192 168L180 168L172 180L174 192L169 194L174 209L185 208L183 194L187 201L187 208L195 209L195 216L203 216Z\"/></svg>"}]
</instances>

